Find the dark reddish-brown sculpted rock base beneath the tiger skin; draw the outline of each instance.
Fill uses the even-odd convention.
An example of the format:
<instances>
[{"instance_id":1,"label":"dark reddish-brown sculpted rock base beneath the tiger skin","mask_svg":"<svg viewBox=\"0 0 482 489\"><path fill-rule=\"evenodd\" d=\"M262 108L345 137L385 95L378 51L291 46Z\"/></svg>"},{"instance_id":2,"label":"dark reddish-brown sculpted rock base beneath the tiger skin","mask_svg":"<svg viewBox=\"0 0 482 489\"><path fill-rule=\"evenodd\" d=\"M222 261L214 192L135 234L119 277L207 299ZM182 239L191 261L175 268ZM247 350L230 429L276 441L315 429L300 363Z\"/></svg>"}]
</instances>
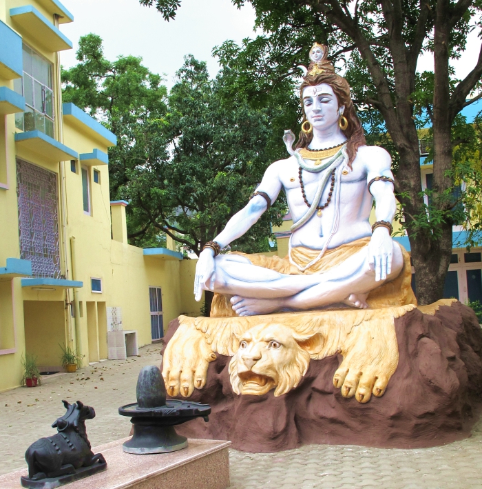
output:
<instances>
[{"instance_id":1,"label":"dark reddish-brown sculpted rock base beneath the tiger skin","mask_svg":"<svg viewBox=\"0 0 482 489\"><path fill-rule=\"evenodd\" d=\"M177 323L169 325L166 343ZM482 392L482 330L472 309L454 302L434 315L412 310L395 319L399 363L383 397L366 404L333 386L340 355L311 360L299 386L274 397L236 395L229 357L209 365L192 401L209 403L209 423L177 428L193 438L229 439L247 452L276 452L308 443L389 448L443 445L470 434Z\"/></svg>"}]
</instances>

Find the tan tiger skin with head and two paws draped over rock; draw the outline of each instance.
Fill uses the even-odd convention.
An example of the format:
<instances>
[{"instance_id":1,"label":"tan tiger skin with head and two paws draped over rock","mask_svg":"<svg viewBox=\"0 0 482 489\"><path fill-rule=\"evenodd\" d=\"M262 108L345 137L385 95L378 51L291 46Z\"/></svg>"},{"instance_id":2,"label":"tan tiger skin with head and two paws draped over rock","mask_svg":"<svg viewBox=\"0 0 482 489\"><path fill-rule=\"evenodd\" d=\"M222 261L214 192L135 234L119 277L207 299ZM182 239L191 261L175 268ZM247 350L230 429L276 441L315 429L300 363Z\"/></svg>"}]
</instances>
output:
<instances>
[{"instance_id":1,"label":"tan tiger skin with head and two paws draped over rock","mask_svg":"<svg viewBox=\"0 0 482 489\"><path fill-rule=\"evenodd\" d=\"M344 357L333 384L366 403L384 394L398 365L394 319L415 306L374 310L290 312L262 317L186 317L169 341L163 376L170 396L189 397L205 386L216 353L233 357L233 392L275 396L295 388L310 359Z\"/></svg>"}]
</instances>

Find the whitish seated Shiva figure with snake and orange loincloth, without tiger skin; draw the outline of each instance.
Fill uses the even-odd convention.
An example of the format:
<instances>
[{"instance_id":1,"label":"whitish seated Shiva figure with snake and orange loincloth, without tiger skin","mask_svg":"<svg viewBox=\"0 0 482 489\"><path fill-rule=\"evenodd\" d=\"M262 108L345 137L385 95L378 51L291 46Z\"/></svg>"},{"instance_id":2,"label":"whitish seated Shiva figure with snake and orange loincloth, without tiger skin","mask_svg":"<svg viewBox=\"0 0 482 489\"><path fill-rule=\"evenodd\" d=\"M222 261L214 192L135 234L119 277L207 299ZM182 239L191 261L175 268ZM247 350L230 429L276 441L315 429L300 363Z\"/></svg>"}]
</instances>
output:
<instances>
[{"instance_id":1,"label":"whitish seated Shiva figure with snake and orange loincloth, without tiger skin","mask_svg":"<svg viewBox=\"0 0 482 489\"><path fill-rule=\"evenodd\" d=\"M404 269L406 252L392 240L396 201L390 154L366 146L348 82L313 44L300 86L302 131L284 134L290 156L275 161L242 210L200 253L194 295L225 297L238 316L333 306L367 308L370 292ZM220 251L260 219L284 190L293 217L289 255ZM376 222L369 217L375 200ZM222 296L220 296L222 295ZM212 311L212 310L211 310Z\"/></svg>"}]
</instances>

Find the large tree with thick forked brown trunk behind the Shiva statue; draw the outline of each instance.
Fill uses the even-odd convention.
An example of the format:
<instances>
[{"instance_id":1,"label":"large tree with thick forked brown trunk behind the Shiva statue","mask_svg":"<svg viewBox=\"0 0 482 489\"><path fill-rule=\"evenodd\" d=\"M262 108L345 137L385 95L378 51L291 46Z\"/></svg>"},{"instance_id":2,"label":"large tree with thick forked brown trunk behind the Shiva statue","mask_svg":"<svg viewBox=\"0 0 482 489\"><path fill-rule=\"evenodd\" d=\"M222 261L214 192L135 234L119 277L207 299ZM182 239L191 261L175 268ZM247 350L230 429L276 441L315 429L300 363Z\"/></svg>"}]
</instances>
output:
<instances>
[{"instance_id":1,"label":"large tree with thick forked brown trunk behind the Shiva statue","mask_svg":"<svg viewBox=\"0 0 482 489\"><path fill-rule=\"evenodd\" d=\"M254 101L293 79L295 67L306 63L313 39L331 46L331 57L345 70L364 121L373 124L370 139L385 142L394 157L395 191L410 239L419 302L440 299L452 254L452 225L467 217L461 216L454 192L461 166L454 169L453 153L468 140L457 136L461 131L454 125L463 125L461 110L481 97L468 100L480 87L482 49L462 80L454 77L450 60L465 50L468 33L480 30L481 0L232 1L238 7L251 3L264 34L244 41L242 48L224 43L217 54L224 65L242 73L240 81ZM166 20L174 19L180 6L180 0L140 3L156 6ZM426 52L433 56L434 70L419 73L417 63ZM429 204L421 191L417 130L423 119L431 126ZM466 174L463 178L468 179Z\"/></svg>"}]
</instances>

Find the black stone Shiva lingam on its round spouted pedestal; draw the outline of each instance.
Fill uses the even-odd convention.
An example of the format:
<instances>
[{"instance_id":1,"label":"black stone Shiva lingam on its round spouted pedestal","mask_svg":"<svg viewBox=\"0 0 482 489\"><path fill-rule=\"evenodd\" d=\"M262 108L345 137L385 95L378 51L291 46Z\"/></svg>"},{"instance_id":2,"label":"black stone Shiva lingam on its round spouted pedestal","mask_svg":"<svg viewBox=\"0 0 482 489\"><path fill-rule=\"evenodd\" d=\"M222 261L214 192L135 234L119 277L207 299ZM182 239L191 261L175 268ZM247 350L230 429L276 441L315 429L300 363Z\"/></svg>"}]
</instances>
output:
<instances>
[{"instance_id":1,"label":"black stone Shiva lingam on its round spouted pedestal","mask_svg":"<svg viewBox=\"0 0 482 489\"><path fill-rule=\"evenodd\" d=\"M174 452L187 447L187 438L174 426L203 417L209 421L209 404L166 401L166 386L156 366L144 367L137 380L137 402L119 408L119 415L132 417L134 436L123 443L127 453Z\"/></svg>"}]
</instances>

